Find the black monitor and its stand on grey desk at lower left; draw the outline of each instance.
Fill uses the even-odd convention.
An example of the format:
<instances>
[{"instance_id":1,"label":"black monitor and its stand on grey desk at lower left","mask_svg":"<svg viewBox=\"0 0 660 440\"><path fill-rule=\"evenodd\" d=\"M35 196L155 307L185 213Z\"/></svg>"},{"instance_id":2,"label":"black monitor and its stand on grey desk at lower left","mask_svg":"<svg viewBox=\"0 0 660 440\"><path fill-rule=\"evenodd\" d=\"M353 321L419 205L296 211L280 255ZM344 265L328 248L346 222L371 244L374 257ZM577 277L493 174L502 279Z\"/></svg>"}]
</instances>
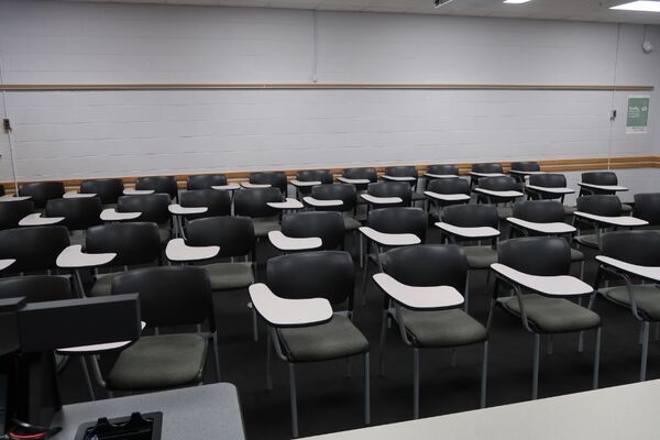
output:
<instances>
[{"instance_id":1,"label":"black monitor and its stand on grey desk at lower left","mask_svg":"<svg viewBox=\"0 0 660 440\"><path fill-rule=\"evenodd\" d=\"M34 304L0 300L0 433L31 432L14 420L48 427L62 408L54 350L136 340L140 333L138 294ZM30 438L47 438L34 436Z\"/></svg>"}]
</instances>

